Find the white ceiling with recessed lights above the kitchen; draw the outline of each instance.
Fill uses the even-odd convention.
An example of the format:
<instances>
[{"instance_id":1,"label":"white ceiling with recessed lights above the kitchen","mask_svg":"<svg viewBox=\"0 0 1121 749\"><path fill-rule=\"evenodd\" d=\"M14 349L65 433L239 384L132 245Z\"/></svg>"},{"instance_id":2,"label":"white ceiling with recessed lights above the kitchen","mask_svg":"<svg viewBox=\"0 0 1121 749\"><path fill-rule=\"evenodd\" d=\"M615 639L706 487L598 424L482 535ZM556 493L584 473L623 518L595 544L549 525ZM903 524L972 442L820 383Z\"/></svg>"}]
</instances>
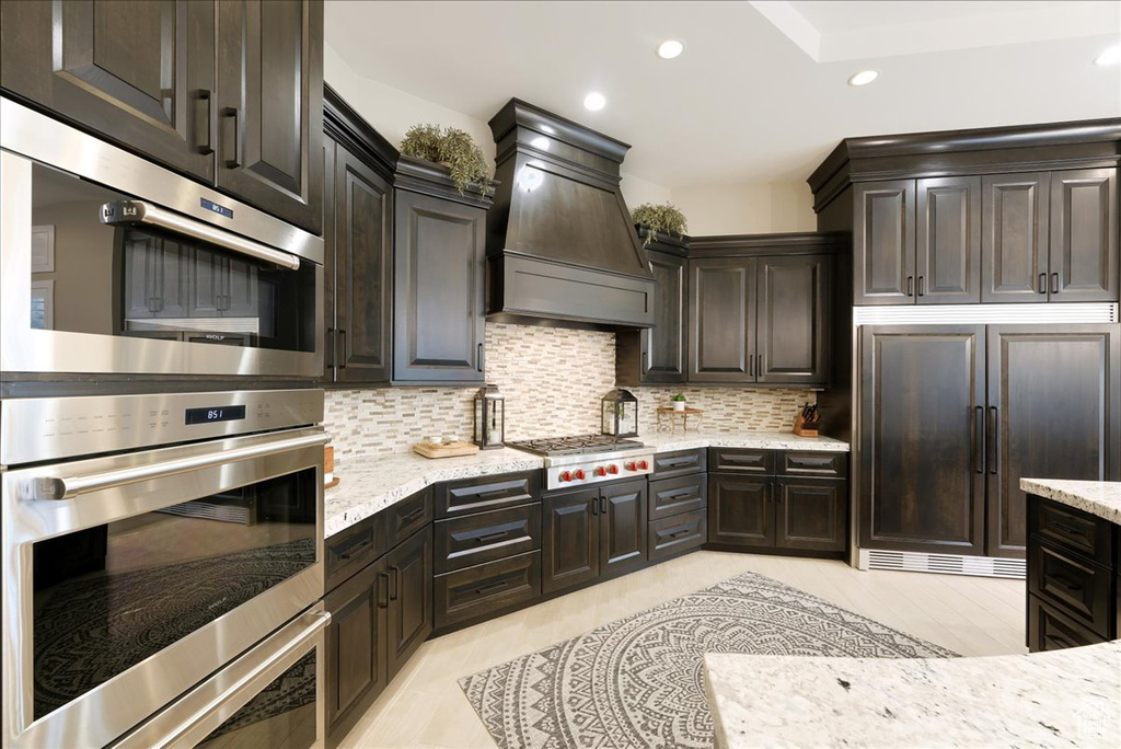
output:
<instances>
[{"instance_id":1,"label":"white ceiling with recessed lights above the kitchen","mask_svg":"<svg viewBox=\"0 0 1121 749\"><path fill-rule=\"evenodd\" d=\"M483 121L518 96L667 187L803 181L844 137L1121 117L1121 66L1093 64L1114 1L327 0L325 26L360 75ZM658 59L669 37L685 54Z\"/></svg>"}]
</instances>

